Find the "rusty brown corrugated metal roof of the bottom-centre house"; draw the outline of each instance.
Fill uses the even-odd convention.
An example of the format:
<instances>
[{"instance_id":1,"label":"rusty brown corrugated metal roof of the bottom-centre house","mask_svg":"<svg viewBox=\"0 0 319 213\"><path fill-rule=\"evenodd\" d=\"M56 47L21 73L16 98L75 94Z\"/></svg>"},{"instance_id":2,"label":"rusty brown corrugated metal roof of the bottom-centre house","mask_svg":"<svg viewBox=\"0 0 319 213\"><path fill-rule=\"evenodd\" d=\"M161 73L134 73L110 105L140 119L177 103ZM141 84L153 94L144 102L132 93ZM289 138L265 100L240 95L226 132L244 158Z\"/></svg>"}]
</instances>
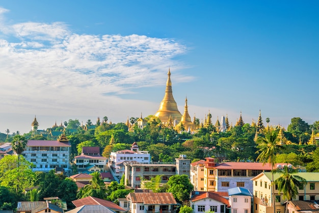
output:
<instances>
[{"instance_id":1,"label":"rusty brown corrugated metal roof of the bottom-centre house","mask_svg":"<svg viewBox=\"0 0 319 213\"><path fill-rule=\"evenodd\" d=\"M177 204L172 193L129 193L127 196L132 203L150 204Z\"/></svg>"}]
</instances>

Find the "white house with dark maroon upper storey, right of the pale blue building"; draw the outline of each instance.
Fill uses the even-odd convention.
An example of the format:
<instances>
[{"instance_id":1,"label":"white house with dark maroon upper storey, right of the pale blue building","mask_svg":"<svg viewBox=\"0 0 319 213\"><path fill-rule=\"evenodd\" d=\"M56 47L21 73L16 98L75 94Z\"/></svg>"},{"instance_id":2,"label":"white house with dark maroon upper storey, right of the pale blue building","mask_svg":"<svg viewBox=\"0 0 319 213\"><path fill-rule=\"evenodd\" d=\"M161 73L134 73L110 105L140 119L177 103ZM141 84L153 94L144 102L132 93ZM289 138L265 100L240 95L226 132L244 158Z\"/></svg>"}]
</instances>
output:
<instances>
[{"instance_id":1,"label":"white house with dark maroon upper storey, right of the pale blue building","mask_svg":"<svg viewBox=\"0 0 319 213\"><path fill-rule=\"evenodd\" d=\"M87 167L99 167L99 171L103 170L107 165L108 159L100 155L99 147L82 147L81 155L74 157L75 166L79 171L87 170ZM96 170L95 170L96 171Z\"/></svg>"}]
</instances>

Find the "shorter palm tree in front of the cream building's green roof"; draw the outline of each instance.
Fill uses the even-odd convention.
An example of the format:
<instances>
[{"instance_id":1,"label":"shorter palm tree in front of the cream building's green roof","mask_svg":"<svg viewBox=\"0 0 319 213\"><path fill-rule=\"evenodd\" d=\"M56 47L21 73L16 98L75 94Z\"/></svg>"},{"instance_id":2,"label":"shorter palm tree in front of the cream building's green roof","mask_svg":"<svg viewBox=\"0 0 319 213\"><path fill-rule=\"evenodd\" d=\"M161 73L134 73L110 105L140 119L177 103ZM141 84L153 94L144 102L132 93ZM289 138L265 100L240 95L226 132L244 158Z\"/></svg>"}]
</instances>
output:
<instances>
[{"instance_id":1,"label":"shorter palm tree in front of the cream building's green roof","mask_svg":"<svg viewBox=\"0 0 319 213\"><path fill-rule=\"evenodd\" d=\"M297 195L299 194L298 189L305 186L306 179L295 175L297 173L297 170L288 168L287 166L284 166L283 169L276 169L273 171L273 173L280 173L279 178L276 179L274 183L278 185L278 194L282 192L283 199L287 199L287 212L288 201L297 197Z\"/></svg>"}]
</instances>

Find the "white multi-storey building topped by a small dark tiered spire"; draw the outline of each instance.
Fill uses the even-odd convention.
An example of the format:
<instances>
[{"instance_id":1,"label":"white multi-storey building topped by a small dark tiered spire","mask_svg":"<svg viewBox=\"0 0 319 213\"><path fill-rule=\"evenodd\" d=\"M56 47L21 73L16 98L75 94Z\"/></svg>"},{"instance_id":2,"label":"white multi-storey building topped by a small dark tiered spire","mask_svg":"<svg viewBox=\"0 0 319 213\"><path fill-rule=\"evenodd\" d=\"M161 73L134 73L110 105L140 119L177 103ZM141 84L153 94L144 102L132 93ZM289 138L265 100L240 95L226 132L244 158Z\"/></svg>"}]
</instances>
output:
<instances>
[{"instance_id":1,"label":"white multi-storey building topped by a small dark tiered spire","mask_svg":"<svg viewBox=\"0 0 319 213\"><path fill-rule=\"evenodd\" d=\"M132 144L130 150L125 149L111 152L109 167L113 176L118 179L124 174L124 162L149 164L151 162L151 157L147 151L139 151L139 146L136 142Z\"/></svg>"}]
</instances>

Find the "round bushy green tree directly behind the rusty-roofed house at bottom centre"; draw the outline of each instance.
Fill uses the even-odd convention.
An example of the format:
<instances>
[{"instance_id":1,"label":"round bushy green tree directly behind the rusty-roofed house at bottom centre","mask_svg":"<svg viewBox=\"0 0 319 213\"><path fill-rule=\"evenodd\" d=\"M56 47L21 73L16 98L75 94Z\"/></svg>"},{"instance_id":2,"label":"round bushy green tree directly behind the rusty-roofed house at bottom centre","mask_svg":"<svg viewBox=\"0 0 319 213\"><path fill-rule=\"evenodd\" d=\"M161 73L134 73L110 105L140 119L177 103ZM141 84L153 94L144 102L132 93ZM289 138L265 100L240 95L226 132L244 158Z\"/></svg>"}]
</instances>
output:
<instances>
[{"instance_id":1,"label":"round bushy green tree directly behind the rusty-roofed house at bottom centre","mask_svg":"<svg viewBox=\"0 0 319 213\"><path fill-rule=\"evenodd\" d=\"M187 175L173 175L169 178L167 185L177 202L183 203L190 197L190 193L194 190L193 184Z\"/></svg>"}]
</instances>

